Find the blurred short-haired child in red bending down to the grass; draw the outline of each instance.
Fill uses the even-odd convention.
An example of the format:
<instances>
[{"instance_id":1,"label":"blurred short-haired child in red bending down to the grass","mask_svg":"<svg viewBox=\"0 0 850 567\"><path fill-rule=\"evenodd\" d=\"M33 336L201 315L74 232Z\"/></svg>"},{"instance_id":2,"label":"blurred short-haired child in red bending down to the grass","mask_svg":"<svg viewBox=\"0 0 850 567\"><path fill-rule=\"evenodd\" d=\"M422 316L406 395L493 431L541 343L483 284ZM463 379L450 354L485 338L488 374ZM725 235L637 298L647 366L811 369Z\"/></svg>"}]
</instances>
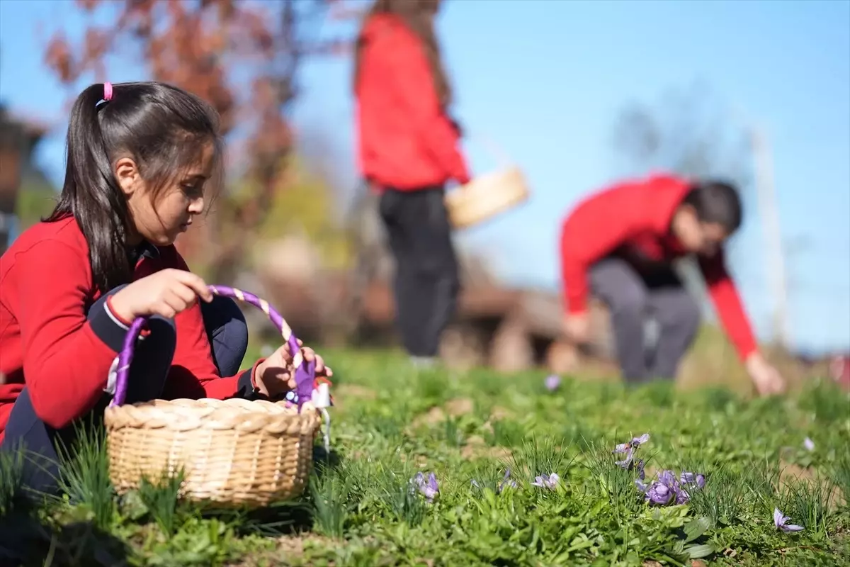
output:
<instances>
[{"instance_id":1,"label":"blurred short-haired child in red bending down to the grass","mask_svg":"<svg viewBox=\"0 0 850 567\"><path fill-rule=\"evenodd\" d=\"M783 378L757 349L726 269L723 244L739 229L742 215L732 185L666 175L615 184L579 203L561 232L568 337L587 342L592 292L609 308L626 381L674 378L699 330L700 305L672 261L694 255L717 315L759 394L783 391ZM659 326L649 350L644 340L648 318Z\"/></svg>"}]
</instances>

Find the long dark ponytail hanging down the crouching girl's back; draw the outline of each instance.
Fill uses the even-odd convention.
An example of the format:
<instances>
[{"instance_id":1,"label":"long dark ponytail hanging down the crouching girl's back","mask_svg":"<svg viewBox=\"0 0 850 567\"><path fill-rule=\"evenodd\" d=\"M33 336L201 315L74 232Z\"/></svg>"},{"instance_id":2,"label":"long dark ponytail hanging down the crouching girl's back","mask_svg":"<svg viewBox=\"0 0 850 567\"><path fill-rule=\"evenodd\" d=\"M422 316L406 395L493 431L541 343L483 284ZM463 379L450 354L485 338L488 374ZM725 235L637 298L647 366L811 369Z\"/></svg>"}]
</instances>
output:
<instances>
[{"instance_id":1,"label":"long dark ponytail hanging down the crouching girl's back","mask_svg":"<svg viewBox=\"0 0 850 567\"><path fill-rule=\"evenodd\" d=\"M104 85L98 83L82 91L74 102L65 142L65 184L45 221L77 219L88 242L94 284L107 292L130 281L124 244L129 213L101 132L99 115L105 105L112 104L101 102L103 99Z\"/></svg>"}]
</instances>

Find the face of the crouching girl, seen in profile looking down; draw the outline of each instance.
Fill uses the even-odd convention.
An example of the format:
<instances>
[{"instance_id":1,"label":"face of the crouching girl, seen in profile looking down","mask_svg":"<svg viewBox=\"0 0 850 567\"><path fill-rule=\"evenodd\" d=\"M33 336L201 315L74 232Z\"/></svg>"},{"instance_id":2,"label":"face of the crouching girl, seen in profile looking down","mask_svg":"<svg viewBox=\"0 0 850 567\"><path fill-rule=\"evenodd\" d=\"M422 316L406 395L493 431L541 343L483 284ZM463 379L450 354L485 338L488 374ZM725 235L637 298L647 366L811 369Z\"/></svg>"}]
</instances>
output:
<instances>
[{"instance_id":1,"label":"face of the crouching girl, seen in profile looking down","mask_svg":"<svg viewBox=\"0 0 850 567\"><path fill-rule=\"evenodd\" d=\"M178 235L189 229L192 218L203 213L204 185L212 175L214 149L207 145L201 159L173 179L157 196L151 198L150 187L142 179L135 162L122 158L116 162L118 184L127 196L135 233L127 244L145 240L155 246L169 246Z\"/></svg>"}]
</instances>

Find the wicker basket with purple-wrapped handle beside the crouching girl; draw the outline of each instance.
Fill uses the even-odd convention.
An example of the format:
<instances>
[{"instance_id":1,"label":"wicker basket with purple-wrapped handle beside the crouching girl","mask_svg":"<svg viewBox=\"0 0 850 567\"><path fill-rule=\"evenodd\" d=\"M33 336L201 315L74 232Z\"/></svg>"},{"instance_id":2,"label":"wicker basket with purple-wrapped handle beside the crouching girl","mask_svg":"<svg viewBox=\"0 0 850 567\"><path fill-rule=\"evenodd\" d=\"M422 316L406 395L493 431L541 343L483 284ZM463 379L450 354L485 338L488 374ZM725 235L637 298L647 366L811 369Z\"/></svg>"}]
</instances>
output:
<instances>
[{"instance_id":1,"label":"wicker basket with purple-wrapped handle beside the crouching girl","mask_svg":"<svg viewBox=\"0 0 850 567\"><path fill-rule=\"evenodd\" d=\"M313 468L313 445L324 405L314 395L314 363L303 360L286 321L263 299L225 286L222 296L262 309L292 351L291 400L154 400L122 405L133 344L144 318L133 321L118 356L116 394L105 411L110 476L119 493L143 477L184 469L185 498L216 505L263 506L300 495ZM292 383L290 384L293 385ZM316 406L319 407L316 407Z\"/></svg>"}]
</instances>

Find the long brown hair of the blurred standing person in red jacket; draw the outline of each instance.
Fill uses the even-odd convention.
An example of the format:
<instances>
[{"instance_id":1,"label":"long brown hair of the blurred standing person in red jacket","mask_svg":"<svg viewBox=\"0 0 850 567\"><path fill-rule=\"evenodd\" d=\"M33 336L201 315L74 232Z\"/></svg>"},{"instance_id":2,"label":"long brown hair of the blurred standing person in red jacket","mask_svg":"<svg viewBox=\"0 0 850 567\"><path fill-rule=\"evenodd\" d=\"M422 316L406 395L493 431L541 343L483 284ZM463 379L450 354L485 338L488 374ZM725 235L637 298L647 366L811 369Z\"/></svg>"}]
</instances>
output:
<instances>
[{"instance_id":1,"label":"long brown hair of the blurred standing person in red jacket","mask_svg":"<svg viewBox=\"0 0 850 567\"><path fill-rule=\"evenodd\" d=\"M440 105L445 109L451 104L451 86L446 76L443 60L439 53L437 35L433 30L433 16L439 10L442 0L375 0L363 20L363 27L378 14L393 14L409 27L422 41L428 65L431 67L434 90ZM357 37L354 47L354 91L360 81L360 60L365 47L363 29Z\"/></svg>"}]
</instances>

